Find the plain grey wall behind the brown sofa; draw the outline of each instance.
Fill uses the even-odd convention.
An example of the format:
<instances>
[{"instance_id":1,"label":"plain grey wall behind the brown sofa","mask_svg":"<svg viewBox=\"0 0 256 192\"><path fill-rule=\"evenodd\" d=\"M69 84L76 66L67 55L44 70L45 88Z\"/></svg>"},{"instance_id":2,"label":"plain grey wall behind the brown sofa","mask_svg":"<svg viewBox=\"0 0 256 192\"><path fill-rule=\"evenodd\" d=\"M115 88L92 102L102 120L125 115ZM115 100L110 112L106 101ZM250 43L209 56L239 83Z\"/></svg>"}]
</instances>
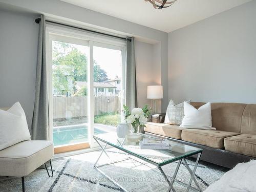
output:
<instances>
[{"instance_id":1,"label":"plain grey wall behind the brown sofa","mask_svg":"<svg viewBox=\"0 0 256 192\"><path fill-rule=\"evenodd\" d=\"M256 103L256 1L168 34L168 98Z\"/></svg>"}]
</instances>

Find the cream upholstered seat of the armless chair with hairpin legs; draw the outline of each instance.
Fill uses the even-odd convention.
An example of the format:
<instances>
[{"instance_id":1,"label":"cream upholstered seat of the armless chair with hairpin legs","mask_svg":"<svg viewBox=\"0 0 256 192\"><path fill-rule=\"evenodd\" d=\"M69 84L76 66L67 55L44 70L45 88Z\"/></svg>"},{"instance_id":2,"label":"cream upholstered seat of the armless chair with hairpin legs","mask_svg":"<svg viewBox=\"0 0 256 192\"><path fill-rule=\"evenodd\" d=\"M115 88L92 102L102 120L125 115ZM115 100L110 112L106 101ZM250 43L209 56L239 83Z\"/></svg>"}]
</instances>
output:
<instances>
[{"instance_id":1,"label":"cream upholstered seat of the armless chair with hairpin legs","mask_svg":"<svg viewBox=\"0 0 256 192\"><path fill-rule=\"evenodd\" d=\"M23 141L0 151L0 176L24 177L53 157L50 141Z\"/></svg>"}]
</instances>

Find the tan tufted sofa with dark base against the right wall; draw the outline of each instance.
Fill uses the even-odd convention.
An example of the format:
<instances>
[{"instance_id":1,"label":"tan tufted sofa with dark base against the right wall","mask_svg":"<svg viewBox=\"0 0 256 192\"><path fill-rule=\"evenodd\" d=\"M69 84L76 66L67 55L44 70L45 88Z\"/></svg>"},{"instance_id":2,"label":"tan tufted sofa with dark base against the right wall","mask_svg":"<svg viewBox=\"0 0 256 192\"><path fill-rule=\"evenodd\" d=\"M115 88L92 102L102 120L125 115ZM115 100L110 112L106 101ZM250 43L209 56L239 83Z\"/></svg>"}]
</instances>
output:
<instances>
[{"instance_id":1,"label":"tan tufted sofa with dark base against the right wall","mask_svg":"<svg viewBox=\"0 0 256 192\"><path fill-rule=\"evenodd\" d=\"M190 104L198 109L205 103ZM145 132L201 147L202 160L229 168L256 159L256 104L211 103L211 116L216 131L148 122Z\"/></svg>"}]
</instances>

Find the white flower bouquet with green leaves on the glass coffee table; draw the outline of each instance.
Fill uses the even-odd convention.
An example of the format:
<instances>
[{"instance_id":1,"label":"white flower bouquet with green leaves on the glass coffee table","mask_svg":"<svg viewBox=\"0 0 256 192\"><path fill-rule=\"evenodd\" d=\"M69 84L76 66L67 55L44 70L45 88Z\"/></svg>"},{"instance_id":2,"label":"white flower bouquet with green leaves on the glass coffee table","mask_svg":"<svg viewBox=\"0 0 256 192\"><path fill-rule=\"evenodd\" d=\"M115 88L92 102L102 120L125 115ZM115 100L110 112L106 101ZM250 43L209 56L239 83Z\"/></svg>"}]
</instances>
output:
<instances>
[{"instance_id":1,"label":"white flower bouquet with green leaves on the glass coffee table","mask_svg":"<svg viewBox=\"0 0 256 192\"><path fill-rule=\"evenodd\" d=\"M147 117L150 115L150 110L147 105L145 105L142 109L134 108L132 112L130 112L127 106L123 105L123 113L125 115L126 122L131 123L134 128L134 133L137 133L139 126L145 126Z\"/></svg>"}]
</instances>

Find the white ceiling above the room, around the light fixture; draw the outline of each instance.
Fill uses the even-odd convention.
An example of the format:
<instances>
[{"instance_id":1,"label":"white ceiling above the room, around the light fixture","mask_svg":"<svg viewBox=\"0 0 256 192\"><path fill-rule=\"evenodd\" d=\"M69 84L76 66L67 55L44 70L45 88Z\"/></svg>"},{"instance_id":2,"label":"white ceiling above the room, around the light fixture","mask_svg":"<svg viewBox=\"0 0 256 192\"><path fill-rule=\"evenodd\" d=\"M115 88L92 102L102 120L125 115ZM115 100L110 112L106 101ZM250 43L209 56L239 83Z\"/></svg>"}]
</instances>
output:
<instances>
[{"instance_id":1,"label":"white ceiling above the room, around the light fixture","mask_svg":"<svg viewBox=\"0 0 256 192\"><path fill-rule=\"evenodd\" d=\"M156 10L144 0L61 0L136 24L170 32L251 0L177 0Z\"/></svg>"}]
</instances>

